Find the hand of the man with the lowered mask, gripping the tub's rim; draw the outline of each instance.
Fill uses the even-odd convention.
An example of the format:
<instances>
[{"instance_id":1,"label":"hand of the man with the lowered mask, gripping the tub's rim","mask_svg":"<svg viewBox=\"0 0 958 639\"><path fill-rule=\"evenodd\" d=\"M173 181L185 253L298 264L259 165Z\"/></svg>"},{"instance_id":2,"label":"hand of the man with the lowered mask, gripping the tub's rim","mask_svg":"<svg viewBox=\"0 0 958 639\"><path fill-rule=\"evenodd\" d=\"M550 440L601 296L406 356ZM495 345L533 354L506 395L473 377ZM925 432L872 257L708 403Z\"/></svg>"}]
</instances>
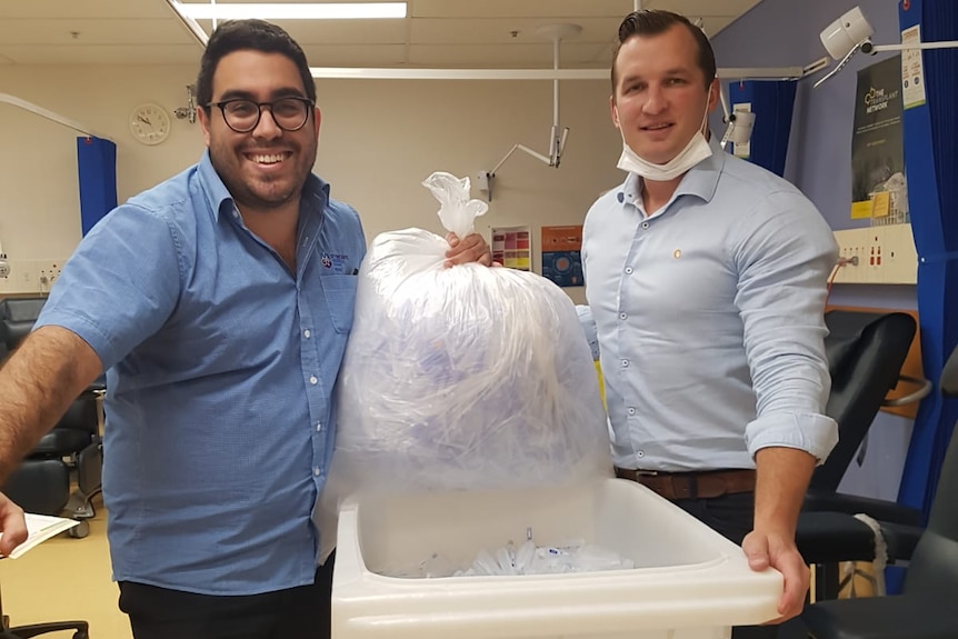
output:
<instances>
[{"instance_id":1,"label":"hand of the man with the lowered mask, gripping the tub's rim","mask_svg":"<svg viewBox=\"0 0 958 639\"><path fill-rule=\"evenodd\" d=\"M811 576L795 546L794 536L752 530L742 540L741 549L748 558L748 567L752 570L760 571L770 566L785 577L785 591L778 602L778 613L781 617L769 623L780 623L801 612Z\"/></svg>"}]
</instances>

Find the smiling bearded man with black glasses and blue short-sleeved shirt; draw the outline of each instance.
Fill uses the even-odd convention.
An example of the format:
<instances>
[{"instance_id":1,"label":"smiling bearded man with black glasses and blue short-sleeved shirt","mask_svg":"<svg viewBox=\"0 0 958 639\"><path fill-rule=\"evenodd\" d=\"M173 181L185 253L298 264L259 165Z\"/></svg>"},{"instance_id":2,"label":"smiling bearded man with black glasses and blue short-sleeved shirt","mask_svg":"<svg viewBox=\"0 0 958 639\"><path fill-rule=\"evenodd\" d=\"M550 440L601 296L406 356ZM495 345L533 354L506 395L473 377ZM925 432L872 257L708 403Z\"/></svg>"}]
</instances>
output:
<instances>
[{"instance_id":1,"label":"smiling bearded man with black glasses and blue short-sleeved shirt","mask_svg":"<svg viewBox=\"0 0 958 639\"><path fill-rule=\"evenodd\" d=\"M83 239L0 372L0 481L106 369L103 495L134 637L328 637L311 513L366 240L310 172L320 112L285 31L223 23L197 87L208 152ZM449 264L491 263L479 236L450 244Z\"/></svg>"}]
</instances>

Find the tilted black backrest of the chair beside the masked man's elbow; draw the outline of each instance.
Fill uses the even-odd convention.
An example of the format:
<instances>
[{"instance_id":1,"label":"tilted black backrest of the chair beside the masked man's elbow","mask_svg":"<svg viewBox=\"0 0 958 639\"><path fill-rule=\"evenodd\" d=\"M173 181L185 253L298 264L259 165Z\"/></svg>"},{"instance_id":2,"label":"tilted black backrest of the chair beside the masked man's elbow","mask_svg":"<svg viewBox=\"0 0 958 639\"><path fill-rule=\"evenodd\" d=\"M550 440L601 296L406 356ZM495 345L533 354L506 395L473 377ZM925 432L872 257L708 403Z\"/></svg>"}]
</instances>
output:
<instances>
[{"instance_id":1,"label":"tilted black backrest of the chair beside the masked man's elbow","mask_svg":"<svg viewBox=\"0 0 958 639\"><path fill-rule=\"evenodd\" d=\"M838 422L838 445L811 476L810 490L834 492L898 376L916 321L904 312L825 313L831 392L825 412Z\"/></svg>"}]
</instances>

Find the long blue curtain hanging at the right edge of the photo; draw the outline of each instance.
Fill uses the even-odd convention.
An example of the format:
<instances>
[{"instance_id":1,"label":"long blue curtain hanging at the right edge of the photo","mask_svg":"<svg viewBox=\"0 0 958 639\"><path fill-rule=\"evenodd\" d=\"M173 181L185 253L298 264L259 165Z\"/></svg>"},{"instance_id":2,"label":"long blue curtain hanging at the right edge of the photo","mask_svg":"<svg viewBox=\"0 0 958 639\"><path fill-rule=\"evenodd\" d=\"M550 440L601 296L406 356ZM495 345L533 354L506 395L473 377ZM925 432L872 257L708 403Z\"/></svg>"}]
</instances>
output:
<instances>
[{"instance_id":1,"label":"long blue curtain hanging at the right edge of the photo","mask_svg":"<svg viewBox=\"0 0 958 639\"><path fill-rule=\"evenodd\" d=\"M902 30L919 26L926 42L956 40L958 2L900 2L899 23ZM958 50L928 50L922 58L926 100L906 108L902 123L908 206L918 250L921 357L935 391L919 407L898 499L922 509L927 520L958 420L958 401L945 400L938 385L958 343Z\"/></svg>"}]
</instances>

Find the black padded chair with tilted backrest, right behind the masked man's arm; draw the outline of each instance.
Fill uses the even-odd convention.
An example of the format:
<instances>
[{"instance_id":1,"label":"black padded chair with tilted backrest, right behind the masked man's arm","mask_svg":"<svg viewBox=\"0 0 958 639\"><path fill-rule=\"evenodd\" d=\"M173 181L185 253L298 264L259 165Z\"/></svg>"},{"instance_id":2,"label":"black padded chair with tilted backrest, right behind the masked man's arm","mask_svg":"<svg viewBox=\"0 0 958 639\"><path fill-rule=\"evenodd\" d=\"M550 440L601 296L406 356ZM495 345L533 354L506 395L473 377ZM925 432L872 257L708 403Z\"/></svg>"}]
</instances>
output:
<instances>
[{"instance_id":1,"label":"black padded chair with tilted backrest, right behind the masked man's arm","mask_svg":"<svg viewBox=\"0 0 958 639\"><path fill-rule=\"evenodd\" d=\"M818 599L838 596L840 561L874 558L874 549L866 550L874 540L871 529L841 513L865 512L887 519L894 510L902 523L917 523L921 518L919 511L902 511L898 505L837 492L886 395L898 383L915 337L915 318L904 312L831 310L825 321L831 373L825 412L838 422L839 439L825 463L812 473L796 530L799 551L807 562L816 565L814 588ZM904 401L914 401L921 392L927 390Z\"/></svg>"}]
</instances>

